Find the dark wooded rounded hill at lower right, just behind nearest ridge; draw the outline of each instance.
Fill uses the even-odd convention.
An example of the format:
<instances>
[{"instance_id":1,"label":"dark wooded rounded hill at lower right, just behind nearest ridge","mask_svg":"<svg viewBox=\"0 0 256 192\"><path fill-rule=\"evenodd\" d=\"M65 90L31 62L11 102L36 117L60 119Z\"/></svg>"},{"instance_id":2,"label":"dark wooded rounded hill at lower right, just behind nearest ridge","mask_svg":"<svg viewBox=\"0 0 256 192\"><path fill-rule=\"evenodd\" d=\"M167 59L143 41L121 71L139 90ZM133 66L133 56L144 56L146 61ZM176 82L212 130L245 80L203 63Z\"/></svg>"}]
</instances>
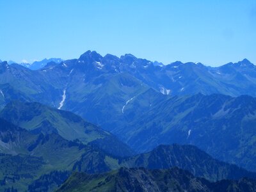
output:
<instances>
[{"instance_id":1,"label":"dark wooded rounded hill at lower right, just behind nearest ridge","mask_svg":"<svg viewBox=\"0 0 256 192\"><path fill-rule=\"evenodd\" d=\"M193 145L159 145L145 154L122 159L120 165L147 169L167 169L176 166L188 170L197 177L212 181L242 177L255 179L255 173L238 168L234 164L218 161Z\"/></svg>"}]
</instances>

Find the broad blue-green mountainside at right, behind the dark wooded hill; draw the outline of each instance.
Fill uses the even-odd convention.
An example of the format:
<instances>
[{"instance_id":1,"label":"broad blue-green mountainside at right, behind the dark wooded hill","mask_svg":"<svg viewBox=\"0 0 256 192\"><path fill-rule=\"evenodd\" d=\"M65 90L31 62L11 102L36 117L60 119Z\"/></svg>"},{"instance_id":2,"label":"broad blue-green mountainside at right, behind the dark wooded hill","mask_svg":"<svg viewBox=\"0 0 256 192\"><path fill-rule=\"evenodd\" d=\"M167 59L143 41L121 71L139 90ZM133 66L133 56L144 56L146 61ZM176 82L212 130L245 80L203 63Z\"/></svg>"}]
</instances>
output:
<instances>
[{"instance_id":1,"label":"broad blue-green mountainside at right, behind the dark wooded hill","mask_svg":"<svg viewBox=\"0 0 256 192\"><path fill-rule=\"evenodd\" d=\"M255 98L246 95L170 98L149 90L129 102L126 122L121 120L113 132L138 151L161 143L186 143L255 170L255 109Z\"/></svg>"}]
</instances>

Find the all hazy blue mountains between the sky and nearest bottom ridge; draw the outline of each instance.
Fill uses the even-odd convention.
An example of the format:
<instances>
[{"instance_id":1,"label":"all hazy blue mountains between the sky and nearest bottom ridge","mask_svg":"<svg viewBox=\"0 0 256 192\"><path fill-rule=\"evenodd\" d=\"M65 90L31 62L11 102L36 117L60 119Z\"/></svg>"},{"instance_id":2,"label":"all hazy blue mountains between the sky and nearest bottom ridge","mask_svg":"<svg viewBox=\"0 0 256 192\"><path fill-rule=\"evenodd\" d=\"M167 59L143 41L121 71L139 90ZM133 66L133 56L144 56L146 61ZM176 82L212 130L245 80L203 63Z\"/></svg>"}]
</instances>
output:
<instances>
[{"instance_id":1,"label":"all hazy blue mountains between the sky and nearest bottom ridge","mask_svg":"<svg viewBox=\"0 0 256 192\"><path fill-rule=\"evenodd\" d=\"M250 61L163 65L87 51L33 65L0 63L1 189L52 191L74 171L96 174L74 173L60 190L76 184L121 190L127 178L138 186L149 178L149 189L161 191L163 177L169 178L164 188L175 180L178 191L254 185L256 67ZM173 166L182 170L159 170ZM97 175L102 172L108 173ZM184 188L181 175L197 184ZM239 181L215 183L222 179Z\"/></svg>"}]
</instances>

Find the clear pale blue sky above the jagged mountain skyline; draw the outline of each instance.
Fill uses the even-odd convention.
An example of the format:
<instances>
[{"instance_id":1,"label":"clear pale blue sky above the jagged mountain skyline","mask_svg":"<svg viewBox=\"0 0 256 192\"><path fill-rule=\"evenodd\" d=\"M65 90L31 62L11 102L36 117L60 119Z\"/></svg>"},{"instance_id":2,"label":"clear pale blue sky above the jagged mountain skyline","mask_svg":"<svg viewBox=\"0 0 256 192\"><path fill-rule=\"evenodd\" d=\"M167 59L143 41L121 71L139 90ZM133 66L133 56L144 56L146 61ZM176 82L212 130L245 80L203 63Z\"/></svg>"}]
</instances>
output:
<instances>
[{"instance_id":1,"label":"clear pale blue sky above the jagged mountain skyline","mask_svg":"<svg viewBox=\"0 0 256 192\"><path fill-rule=\"evenodd\" d=\"M256 65L255 0L0 0L0 60L87 50L159 61Z\"/></svg>"}]
</instances>

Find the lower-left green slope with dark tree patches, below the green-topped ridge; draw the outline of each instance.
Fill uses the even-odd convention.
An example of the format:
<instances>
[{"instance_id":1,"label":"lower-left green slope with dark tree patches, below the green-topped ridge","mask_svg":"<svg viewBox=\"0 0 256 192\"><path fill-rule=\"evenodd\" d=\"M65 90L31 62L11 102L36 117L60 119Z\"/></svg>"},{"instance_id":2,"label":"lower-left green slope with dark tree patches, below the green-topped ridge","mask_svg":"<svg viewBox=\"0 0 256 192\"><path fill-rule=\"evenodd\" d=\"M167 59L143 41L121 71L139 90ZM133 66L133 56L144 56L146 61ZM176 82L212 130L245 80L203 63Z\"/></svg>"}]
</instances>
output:
<instances>
[{"instance_id":1,"label":"lower-left green slope with dark tree patches, below the green-topped ridge","mask_svg":"<svg viewBox=\"0 0 256 192\"><path fill-rule=\"evenodd\" d=\"M77 164L82 164L83 172L87 173L115 168L112 163L115 159L93 145L68 141L56 133L30 132L1 118L0 124L0 189L3 191L10 187L26 191L28 184L42 174L71 172L77 170Z\"/></svg>"}]
</instances>

